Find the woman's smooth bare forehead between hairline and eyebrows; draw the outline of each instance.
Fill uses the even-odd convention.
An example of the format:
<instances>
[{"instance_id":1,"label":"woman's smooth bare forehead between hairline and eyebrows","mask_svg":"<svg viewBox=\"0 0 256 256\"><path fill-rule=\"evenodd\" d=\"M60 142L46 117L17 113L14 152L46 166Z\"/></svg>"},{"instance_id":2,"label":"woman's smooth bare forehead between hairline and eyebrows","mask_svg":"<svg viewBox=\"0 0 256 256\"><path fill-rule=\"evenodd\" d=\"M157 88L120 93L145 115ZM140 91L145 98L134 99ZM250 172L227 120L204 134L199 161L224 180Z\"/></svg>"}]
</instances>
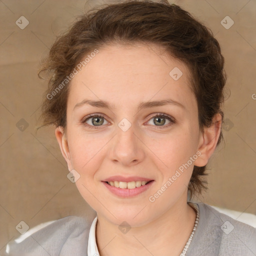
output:
<instances>
[{"instance_id":1,"label":"woman's smooth bare forehead between hairline and eyebrows","mask_svg":"<svg viewBox=\"0 0 256 256\"><path fill-rule=\"evenodd\" d=\"M69 84L68 101L72 105L85 95L115 102L144 101L152 97L157 100L168 95L183 104L189 101L189 70L162 47L112 44L98 51Z\"/></svg>"}]
</instances>

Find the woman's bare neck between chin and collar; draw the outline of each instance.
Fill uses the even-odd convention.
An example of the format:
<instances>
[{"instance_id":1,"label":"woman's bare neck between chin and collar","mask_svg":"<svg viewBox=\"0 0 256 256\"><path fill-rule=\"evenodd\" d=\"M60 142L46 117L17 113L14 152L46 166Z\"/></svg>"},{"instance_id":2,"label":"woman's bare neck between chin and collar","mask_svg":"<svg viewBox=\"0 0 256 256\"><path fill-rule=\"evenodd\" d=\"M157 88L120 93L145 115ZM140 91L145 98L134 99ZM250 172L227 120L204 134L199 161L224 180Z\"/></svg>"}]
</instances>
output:
<instances>
[{"instance_id":1,"label":"woman's bare neck between chin and collar","mask_svg":"<svg viewBox=\"0 0 256 256\"><path fill-rule=\"evenodd\" d=\"M192 232L196 217L195 210L187 204L186 197L184 199L157 219L143 226L131 227L126 234L98 215L96 241L100 256L179 255Z\"/></svg>"}]
</instances>

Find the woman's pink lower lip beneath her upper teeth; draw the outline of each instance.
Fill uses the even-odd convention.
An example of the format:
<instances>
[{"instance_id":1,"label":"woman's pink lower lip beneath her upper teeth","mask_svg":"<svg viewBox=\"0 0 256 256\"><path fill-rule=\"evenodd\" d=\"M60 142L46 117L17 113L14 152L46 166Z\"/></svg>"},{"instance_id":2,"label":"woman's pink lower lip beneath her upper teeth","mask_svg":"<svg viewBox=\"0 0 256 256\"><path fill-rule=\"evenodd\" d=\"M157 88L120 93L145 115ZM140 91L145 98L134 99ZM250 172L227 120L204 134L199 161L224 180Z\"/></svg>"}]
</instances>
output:
<instances>
[{"instance_id":1,"label":"woman's pink lower lip beneath her upper teeth","mask_svg":"<svg viewBox=\"0 0 256 256\"><path fill-rule=\"evenodd\" d=\"M119 188L119 187L108 185L107 182L104 182L104 181L101 181L101 182L103 182L103 184L106 186L106 188L108 188L110 190L110 192L112 192L115 195L118 195L120 197L132 197L132 196L140 194L140 193L144 192L146 189L148 189L154 183L154 180L148 182L145 185L131 188L131 189Z\"/></svg>"}]
</instances>

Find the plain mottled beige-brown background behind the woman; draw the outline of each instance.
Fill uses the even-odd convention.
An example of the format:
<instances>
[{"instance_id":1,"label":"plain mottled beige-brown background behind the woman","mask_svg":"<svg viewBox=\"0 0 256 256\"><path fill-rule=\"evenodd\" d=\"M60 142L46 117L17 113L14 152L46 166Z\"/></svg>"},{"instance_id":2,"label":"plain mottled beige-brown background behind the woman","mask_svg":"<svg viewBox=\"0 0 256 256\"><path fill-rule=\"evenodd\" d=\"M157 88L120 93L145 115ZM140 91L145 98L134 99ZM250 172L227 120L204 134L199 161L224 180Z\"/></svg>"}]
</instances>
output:
<instances>
[{"instance_id":1,"label":"plain mottled beige-brown background behind the woman","mask_svg":"<svg viewBox=\"0 0 256 256\"><path fill-rule=\"evenodd\" d=\"M35 125L46 88L36 76L38 61L56 34L96 2L0 0L0 252L19 235L15 226L21 220L31 228L67 215L93 217L66 178L54 129L35 132ZM230 90L224 105L225 142L208 164L208 191L195 200L256 214L256 1L172 2L212 29L225 57L226 98ZM24 29L15 24L22 15L29 21ZM229 29L220 23L227 15L234 21Z\"/></svg>"}]
</instances>

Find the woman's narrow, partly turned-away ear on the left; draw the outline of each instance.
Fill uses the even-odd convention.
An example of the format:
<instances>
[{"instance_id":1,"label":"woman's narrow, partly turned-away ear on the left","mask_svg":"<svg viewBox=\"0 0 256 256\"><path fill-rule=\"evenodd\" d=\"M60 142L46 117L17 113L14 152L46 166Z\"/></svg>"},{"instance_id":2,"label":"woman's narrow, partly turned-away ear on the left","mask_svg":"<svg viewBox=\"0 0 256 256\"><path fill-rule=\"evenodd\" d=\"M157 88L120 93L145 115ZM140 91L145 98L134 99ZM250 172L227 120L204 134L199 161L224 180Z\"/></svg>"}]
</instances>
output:
<instances>
[{"instance_id":1,"label":"woman's narrow, partly turned-away ear on the left","mask_svg":"<svg viewBox=\"0 0 256 256\"><path fill-rule=\"evenodd\" d=\"M67 138L66 138L66 135L64 133L64 129L62 126L56 127L55 136L58 141L60 151L66 160L68 170L70 171L70 170L72 170L70 152L69 152L69 148L68 148Z\"/></svg>"}]
</instances>

